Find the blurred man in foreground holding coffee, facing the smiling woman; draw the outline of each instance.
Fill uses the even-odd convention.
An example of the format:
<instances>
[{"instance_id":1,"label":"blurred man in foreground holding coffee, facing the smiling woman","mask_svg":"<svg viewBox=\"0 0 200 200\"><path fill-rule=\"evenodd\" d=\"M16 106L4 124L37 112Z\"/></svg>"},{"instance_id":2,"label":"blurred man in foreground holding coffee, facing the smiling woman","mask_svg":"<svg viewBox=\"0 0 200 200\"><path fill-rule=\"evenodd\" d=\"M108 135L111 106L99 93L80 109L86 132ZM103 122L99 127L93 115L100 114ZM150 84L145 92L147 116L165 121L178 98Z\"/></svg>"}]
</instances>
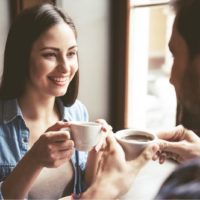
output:
<instances>
[{"instance_id":1,"label":"blurred man in foreground holding coffee, facing the smiling woman","mask_svg":"<svg viewBox=\"0 0 200 200\"><path fill-rule=\"evenodd\" d=\"M181 111L178 113L177 122L184 126L179 125L170 131L158 133L161 154L153 156L153 159L159 158L163 163L166 157L170 157L179 163L186 163L180 165L171 174L161 187L156 199L197 199L200 198L200 178L198 176L200 172L200 138L197 136L197 130L200 130L200 0L172 0L172 5L176 17L169 41L169 48L174 57L170 82L175 87L179 111ZM192 129L196 133L188 129ZM118 173L109 171L109 168L106 168L106 165L109 166L109 162L104 162L105 166L102 167L104 170L101 173L103 175L108 170L104 176L105 188L109 190L108 185L113 186L115 191L118 190L118 194L120 194L120 190L122 190L120 184L109 184L112 183L112 177L115 175L115 181L120 182L120 180L131 177L134 172L126 169L131 166L130 163L121 162L119 157L112 157L112 159L115 160L115 163L121 163L124 166L121 167L123 170ZM113 162L110 160L110 165ZM137 162L144 163L141 162L141 159L136 159L134 162L134 165ZM98 183L98 178L96 181Z\"/></svg>"}]
</instances>

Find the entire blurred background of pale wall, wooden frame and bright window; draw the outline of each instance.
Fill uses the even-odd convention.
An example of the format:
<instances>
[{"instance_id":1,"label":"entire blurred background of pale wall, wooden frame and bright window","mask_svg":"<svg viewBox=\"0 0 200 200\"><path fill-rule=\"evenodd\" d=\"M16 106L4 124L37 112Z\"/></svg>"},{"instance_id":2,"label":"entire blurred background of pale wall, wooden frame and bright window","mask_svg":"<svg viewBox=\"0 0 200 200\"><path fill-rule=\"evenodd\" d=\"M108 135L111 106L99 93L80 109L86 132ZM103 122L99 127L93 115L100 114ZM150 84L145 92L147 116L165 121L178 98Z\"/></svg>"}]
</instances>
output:
<instances>
[{"instance_id":1,"label":"entire blurred background of pale wall, wooden frame and bright window","mask_svg":"<svg viewBox=\"0 0 200 200\"><path fill-rule=\"evenodd\" d=\"M43 2L61 7L77 27L79 99L88 108L90 120L104 118L114 131L175 125L168 51L174 16L169 1L1 0L1 74L12 20L22 9Z\"/></svg>"}]
</instances>

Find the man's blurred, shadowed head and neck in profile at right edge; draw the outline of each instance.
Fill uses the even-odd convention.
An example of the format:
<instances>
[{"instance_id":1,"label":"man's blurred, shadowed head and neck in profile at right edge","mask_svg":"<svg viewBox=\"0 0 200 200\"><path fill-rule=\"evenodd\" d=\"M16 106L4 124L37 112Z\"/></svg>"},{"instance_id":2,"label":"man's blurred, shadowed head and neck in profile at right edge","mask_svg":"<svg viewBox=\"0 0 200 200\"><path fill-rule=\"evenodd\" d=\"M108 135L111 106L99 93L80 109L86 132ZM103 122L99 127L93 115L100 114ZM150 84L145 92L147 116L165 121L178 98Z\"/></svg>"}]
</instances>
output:
<instances>
[{"instance_id":1,"label":"man's blurred, shadowed head and neck in profile at right edge","mask_svg":"<svg viewBox=\"0 0 200 200\"><path fill-rule=\"evenodd\" d=\"M174 57L171 83L177 100L177 124L194 130L200 129L200 2L173 1L176 17L169 42ZM200 133L199 133L200 134Z\"/></svg>"}]
</instances>

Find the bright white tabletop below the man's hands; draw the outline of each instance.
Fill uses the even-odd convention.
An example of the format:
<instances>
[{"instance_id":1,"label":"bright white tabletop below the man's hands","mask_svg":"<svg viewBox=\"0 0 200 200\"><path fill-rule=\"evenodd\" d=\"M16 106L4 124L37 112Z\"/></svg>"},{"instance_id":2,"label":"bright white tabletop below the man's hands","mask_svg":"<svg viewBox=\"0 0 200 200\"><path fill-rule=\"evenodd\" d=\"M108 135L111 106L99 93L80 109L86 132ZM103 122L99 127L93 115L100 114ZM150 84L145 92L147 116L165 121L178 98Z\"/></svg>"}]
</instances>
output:
<instances>
[{"instance_id":1,"label":"bright white tabletop below the man's hands","mask_svg":"<svg viewBox=\"0 0 200 200\"><path fill-rule=\"evenodd\" d=\"M152 200L162 183L176 168L177 163L167 160L164 164L149 161L137 175L127 194L120 200Z\"/></svg>"}]
</instances>

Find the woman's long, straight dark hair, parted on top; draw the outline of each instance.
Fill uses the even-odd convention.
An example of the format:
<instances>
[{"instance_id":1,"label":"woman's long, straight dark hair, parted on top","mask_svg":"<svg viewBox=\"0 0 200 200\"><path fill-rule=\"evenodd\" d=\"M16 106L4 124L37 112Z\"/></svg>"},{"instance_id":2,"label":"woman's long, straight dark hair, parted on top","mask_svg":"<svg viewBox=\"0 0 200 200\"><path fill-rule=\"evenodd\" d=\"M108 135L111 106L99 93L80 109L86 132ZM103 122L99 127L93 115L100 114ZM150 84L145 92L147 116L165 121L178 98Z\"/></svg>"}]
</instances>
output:
<instances>
[{"instance_id":1,"label":"woman's long, straight dark hair, parted on top","mask_svg":"<svg viewBox=\"0 0 200 200\"><path fill-rule=\"evenodd\" d=\"M5 52L1 99L20 97L25 89L26 78L29 76L29 59L33 43L53 25L65 22L77 32L72 19L51 4L41 4L22 11L14 20L8 33ZM68 90L61 97L64 105L72 105L78 95L79 71L70 82Z\"/></svg>"}]
</instances>

